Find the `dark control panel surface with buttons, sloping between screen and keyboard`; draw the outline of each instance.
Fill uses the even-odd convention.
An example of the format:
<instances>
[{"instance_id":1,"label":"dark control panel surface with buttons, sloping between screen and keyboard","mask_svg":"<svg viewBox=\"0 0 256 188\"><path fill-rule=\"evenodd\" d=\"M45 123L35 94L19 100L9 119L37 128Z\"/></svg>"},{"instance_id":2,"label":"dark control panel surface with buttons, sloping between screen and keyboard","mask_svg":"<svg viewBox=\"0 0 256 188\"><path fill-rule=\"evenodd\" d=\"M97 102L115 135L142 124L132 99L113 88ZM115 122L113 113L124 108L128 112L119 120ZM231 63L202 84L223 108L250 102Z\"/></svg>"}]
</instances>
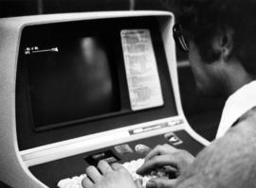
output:
<instances>
[{"instance_id":1,"label":"dark control panel surface with buttons, sloping between screen and keyboard","mask_svg":"<svg viewBox=\"0 0 256 188\"><path fill-rule=\"evenodd\" d=\"M192 155L196 155L204 147L185 130L178 130L129 143L111 145L53 162L38 164L29 167L29 170L47 186L57 187L57 183L61 179L84 174L88 165L97 165L101 160L110 163L137 161L137 159L143 159L155 145L163 144L174 145L176 148L188 150Z\"/></svg>"}]
</instances>

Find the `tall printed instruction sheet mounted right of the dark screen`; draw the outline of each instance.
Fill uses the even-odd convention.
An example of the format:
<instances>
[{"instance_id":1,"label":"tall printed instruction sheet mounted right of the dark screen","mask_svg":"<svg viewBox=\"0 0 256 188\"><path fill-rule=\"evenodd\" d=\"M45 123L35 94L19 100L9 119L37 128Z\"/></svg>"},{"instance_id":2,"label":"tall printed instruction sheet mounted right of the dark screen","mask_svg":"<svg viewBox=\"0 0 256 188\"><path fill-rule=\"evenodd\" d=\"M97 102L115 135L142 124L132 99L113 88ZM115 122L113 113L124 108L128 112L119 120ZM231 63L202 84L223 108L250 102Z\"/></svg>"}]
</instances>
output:
<instances>
[{"instance_id":1,"label":"tall printed instruction sheet mounted right of the dark screen","mask_svg":"<svg viewBox=\"0 0 256 188\"><path fill-rule=\"evenodd\" d=\"M164 102L150 31L125 29L120 35L132 110L162 106Z\"/></svg>"}]
</instances>

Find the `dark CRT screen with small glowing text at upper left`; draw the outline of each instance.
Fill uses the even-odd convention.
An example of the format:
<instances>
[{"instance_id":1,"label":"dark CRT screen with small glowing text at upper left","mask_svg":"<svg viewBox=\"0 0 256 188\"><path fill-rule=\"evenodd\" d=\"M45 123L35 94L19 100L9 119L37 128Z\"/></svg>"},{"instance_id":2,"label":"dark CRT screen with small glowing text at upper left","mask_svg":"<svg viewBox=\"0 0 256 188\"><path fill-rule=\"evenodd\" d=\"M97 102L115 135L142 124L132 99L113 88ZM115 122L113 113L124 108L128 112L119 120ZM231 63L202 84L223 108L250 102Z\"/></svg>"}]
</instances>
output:
<instances>
[{"instance_id":1,"label":"dark CRT screen with small glowing text at upper left","mask_svg":"<svg viewBox=\"0 0 256 188\"><path fill-rule=\"evenodd\" d=\"M36 128L119 111L107 49L96 37L28 52L29 94Z\"/></svg>"}]
</instances>

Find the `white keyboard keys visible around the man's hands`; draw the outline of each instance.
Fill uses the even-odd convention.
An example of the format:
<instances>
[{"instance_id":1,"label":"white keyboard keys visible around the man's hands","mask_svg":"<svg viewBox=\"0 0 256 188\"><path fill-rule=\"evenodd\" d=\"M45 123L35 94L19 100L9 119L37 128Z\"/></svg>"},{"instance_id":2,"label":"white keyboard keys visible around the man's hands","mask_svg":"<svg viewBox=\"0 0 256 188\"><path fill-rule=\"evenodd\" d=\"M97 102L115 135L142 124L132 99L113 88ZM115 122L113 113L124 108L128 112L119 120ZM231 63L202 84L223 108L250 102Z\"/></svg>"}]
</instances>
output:
<instances>
[{"instance_id":1,"label":"white keyboard keys visible around the man's hands","mask_svg":"<svg viewBox=\"0 0 256 188\"><path fill-rule=\"evenodd\" d=\"M137 175L136 171L137 169L144 163L143 159L137 159L135 161L131 162L124 162L122 165L129 171L129 173L132 175L133 179L141 179L142 180L142 187L146 187L146 182L149 179L155 178L155 176L145 176L141 177ZM67 178L67 179L61 179L57 186L59 188L82 188L82 179L86 177L85 174L75 176L73 178Z\"/></svg>"}]
</instances>

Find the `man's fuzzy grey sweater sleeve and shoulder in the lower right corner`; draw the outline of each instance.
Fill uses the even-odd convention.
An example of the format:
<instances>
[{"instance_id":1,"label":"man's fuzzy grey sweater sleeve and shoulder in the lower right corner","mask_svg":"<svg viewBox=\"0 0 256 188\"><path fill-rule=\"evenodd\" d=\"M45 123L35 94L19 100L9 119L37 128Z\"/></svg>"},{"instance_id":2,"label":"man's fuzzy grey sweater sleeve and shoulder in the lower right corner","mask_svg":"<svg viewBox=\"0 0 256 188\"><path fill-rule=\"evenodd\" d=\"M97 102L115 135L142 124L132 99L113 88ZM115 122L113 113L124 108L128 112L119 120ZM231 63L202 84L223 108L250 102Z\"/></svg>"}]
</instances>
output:
<instances>
[{"instance_id":1,"label":"man's fuzzy grey sweater sleeve and shoulder in the lower right corner","mask_svg":"<svg viewBox=\"0 0 256 188\"><path fill-rule=\"evenodd\" d=\"M253 187L256 184L255 150L256 108L247 111L224 137L203 149L177 187Z\"/></svg>"}]
</instances>

